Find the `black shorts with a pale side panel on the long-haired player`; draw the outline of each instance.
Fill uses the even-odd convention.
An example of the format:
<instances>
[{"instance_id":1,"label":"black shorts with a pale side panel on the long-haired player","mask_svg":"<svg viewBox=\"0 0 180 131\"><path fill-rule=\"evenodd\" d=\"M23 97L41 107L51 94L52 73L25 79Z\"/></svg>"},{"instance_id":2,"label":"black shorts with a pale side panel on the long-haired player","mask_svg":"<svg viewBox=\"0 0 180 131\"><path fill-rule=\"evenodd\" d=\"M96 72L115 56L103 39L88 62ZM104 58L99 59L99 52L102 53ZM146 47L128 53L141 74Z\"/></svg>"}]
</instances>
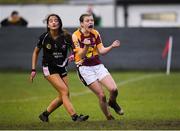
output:
<instances>
[{"instance_id":1,"label":"black shorts with a pale side panel on the long-haired player","mask_svg":"<svg viewBox=\"0 0 180 131\"><path fill-rule=\"evenodd\" d=\"M52 74L59 74L61 77L67 76L66 67L58 67L58 66L43 66L43 74L44 76L49 76Z\"/></svg>"}]
</instances>

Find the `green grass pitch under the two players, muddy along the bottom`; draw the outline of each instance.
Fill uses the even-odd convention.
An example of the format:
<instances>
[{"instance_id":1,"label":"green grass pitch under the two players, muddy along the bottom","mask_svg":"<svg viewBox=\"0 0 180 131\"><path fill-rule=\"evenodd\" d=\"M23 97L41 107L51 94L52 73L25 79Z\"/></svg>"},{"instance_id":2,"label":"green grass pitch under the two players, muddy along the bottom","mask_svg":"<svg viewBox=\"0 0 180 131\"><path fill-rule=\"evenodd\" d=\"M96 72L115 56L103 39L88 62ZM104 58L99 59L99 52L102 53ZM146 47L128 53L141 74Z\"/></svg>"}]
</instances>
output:
<instances>
[{"instance_id":1,"label":"green grass pitch under the two players, muddy along the bottom","mask_svg":"<svg viewBox=\"0 0 180 131\"><path fill-rule=\"evenodd\" d=\"M88 114L87 122L72 122L64 107L42 123L38 115L57 93L38 73L33 84L28 73L0 73L0 129L20 130L120 130L180 129L180 73L112 72L118 88L118 102L125 111L115 121L106 121L96 96L84 87L75 72L69 73L72 103L78 113ZM108 93L106 92L107 96Z\"/></svg>"}]
</instances>

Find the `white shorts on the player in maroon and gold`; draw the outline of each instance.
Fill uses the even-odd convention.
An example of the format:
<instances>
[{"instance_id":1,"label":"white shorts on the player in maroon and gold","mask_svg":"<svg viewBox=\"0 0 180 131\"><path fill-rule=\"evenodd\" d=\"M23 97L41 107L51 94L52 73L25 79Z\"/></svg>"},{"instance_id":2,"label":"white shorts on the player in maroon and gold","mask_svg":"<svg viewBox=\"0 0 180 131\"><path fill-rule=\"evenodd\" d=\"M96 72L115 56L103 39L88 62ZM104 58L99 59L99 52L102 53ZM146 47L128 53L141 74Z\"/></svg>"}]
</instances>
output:
<instances>
[{"instance_id":1,"label":"white shorts on the player in maroon and gold","mask_svg":"<svg viewBox=\"0 0 180 131\"><path fill-rule=\"evenodd\" d=\"M109 75L109 71L104 67L103 64L95 66L80 66L78 73L81 81L85 85L90 85L96 80L102 80L105 76Z\"/></svg>"}]
</instances>

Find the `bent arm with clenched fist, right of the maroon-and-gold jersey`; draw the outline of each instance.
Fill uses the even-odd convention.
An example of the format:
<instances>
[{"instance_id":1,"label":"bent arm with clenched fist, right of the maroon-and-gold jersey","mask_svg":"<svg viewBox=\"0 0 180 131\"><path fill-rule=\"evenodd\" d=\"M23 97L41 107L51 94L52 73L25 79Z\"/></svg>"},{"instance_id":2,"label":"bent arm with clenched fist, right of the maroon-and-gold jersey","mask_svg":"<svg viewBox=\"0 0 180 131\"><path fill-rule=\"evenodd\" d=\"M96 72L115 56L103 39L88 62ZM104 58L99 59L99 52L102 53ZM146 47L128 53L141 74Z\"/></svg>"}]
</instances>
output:
<instances>
[{"instance_id":1,"label":"bent arm with clenched fist, right of the maroon-and-gold jersey","mask_svg":"<svg viewBox=\"0 0 180 131\"><path fill-rule=\"evenodd\" d=\"M99 44L97 46L98 51L100 54L104 55L107 54L111 49L113 48L117 48L120 46L120 41L119 40L115 40L110 46L108 47L104 47L103 44Z\"/></svg>"}]
</instances>

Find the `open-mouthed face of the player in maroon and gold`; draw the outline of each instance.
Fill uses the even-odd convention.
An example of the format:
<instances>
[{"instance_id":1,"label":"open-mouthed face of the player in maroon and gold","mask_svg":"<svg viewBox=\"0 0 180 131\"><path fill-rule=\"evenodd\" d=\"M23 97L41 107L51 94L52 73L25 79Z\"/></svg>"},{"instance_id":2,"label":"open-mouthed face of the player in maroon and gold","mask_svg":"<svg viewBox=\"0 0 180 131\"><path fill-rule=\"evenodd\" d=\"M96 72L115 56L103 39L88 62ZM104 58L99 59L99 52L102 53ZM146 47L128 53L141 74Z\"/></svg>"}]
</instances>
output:
<instances>
[{"instance_id":1,"label":"open-mouthed face of the player in maroon and gold","mask_svg":"<svg viewBox=\"0 0 180 131\"><path fill-rule=\"evenodd\" d=\"M86 30L86 31L91 31L94 28L94 19L93 16L85 16L84 21L81 23L81 26Z\"/></svg>"}]
</instances>

